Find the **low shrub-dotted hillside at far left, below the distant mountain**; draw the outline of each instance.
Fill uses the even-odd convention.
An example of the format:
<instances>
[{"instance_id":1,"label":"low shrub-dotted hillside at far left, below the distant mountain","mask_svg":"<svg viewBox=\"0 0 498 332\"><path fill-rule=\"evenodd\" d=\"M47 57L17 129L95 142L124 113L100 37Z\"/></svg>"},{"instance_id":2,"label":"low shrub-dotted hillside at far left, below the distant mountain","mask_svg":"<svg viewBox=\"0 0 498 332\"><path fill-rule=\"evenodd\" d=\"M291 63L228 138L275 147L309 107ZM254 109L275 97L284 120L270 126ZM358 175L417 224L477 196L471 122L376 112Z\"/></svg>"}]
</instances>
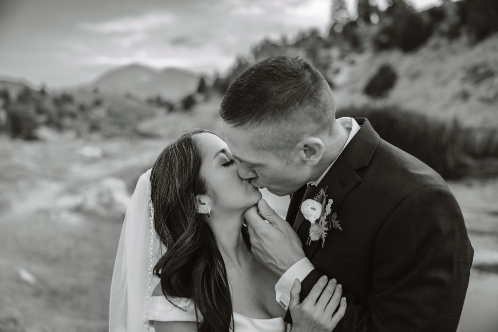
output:
<instances>
[{"instance_id":1,"label":"low shrub-dotted hillside at far left, below the distant mountain","mask_svg":"<svg viewBox=\"0 0 498 332\"><path fill-rule=\"evenodd\" d=\"M28 140L136 137L137 125L164 109L99 91L47 92L0 81L0 133Z\"/></svg>"}]
</instances>

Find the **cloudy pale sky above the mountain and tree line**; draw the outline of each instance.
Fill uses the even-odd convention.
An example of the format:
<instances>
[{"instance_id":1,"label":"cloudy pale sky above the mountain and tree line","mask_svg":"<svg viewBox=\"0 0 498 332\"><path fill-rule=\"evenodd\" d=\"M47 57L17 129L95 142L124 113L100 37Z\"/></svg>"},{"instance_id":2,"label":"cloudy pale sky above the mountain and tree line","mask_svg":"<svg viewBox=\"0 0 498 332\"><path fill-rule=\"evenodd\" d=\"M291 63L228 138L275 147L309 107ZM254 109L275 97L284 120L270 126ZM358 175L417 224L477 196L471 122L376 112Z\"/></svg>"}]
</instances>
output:
<instances>
[{"instance_id":1,"label":"cloudy pale sky above the mountain and tree line","mask_svg":"<svg viewBox=\"0 0 498 332\"><path fill-rule=\"evenodd\" d=\"M346 0L354 12L356 0ZM441 0L411 0L423 9ZM382 8L385 0L377 0ZM0 79L60 88L131 63L224 73L265 37L330 28L331 0L0 0Z\"/></svg>"}]
</instances>

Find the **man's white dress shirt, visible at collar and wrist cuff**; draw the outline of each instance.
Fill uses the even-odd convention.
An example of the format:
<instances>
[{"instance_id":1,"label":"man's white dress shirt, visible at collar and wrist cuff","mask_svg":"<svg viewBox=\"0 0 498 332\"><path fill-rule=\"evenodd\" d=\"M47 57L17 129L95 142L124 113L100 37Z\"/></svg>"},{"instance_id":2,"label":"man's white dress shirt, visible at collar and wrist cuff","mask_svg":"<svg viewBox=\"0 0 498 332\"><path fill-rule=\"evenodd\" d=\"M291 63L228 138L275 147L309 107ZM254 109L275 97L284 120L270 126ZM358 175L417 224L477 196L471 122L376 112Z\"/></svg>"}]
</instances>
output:
<instances>
[{"instance_id":1,"label":"man's white dress shirt, visible at collar and wrist cuff","mask_svg":"<svg viewBox=\"0 0 498 332\"><path fill-rule=\"evenodd\" d=\"M341 155L341 153L344 151L348 143L351 141L351 139L353 139L353 137L356 135L356 133L360 130L361 127L358 124L358 122L356 122L356 120L352 117L341 117L338 118L337 121L346 130L349 130L349 137L346 140L346 144L344 144L341 152L339 152L339 154L337 155L337 158L339 158L339 155ZM329 167L327 167L325 172L323 172L318 179L309 182L308 185L317 187L318 184L320 184L322 179L325 177L325 175L329 172L332 165L334 165L337 158L334 159L334 161L330 164ZM294 263L294 265L289 267L289 269L285 271L285 273L280 277L280 279L275 285L275 299L283 309L287 310L287 307L289 306L290 289L292 288L294 280L299 279L299 281L302 282L303 279L306 278L306 276L314 268L315 267L313 266L313 264L311 264L308 257L304 257L301 260Z\"/></svg>"}]
</instances>

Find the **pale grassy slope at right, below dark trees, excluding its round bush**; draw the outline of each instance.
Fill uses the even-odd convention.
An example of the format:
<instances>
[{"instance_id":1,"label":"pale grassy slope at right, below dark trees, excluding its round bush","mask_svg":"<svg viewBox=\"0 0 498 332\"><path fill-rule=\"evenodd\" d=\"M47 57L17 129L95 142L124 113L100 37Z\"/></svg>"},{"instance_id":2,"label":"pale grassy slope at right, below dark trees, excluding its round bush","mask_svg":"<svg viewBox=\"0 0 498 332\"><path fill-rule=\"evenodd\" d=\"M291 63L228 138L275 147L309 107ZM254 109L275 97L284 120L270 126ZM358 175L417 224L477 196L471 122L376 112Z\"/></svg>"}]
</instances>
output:
<instances>
[{"instance_id":1,"label":"pale grassy slope at right, below dark trees, excluding its round bush","mask_svg":"<svg viewBox=\"0 0 498 332\"><path fill-rule=\"evenodd\" d=\"M333 64L338 108L395 105L439 119L457 118L472 126L498 125L498 34L469 48L465 42L435 38L416 52L398 50L352 55ZM364 88L381 65L397 80L387 97Z\"/></svg>"}]
</instances>

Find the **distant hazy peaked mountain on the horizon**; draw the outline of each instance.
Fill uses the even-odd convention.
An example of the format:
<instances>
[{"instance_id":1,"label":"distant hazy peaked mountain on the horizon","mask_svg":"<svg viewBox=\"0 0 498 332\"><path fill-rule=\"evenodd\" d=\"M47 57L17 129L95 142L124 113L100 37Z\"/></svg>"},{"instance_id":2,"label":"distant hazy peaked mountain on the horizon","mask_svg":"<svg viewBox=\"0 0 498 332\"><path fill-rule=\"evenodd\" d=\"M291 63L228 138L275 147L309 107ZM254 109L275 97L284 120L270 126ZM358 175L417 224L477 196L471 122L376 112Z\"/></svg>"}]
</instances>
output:
<instances>
[{"instance_id":1,"label":"distant hazy peaked mountain on the horizon","mask_svg":"<svg viewBox=\"0 0 498 332\"><path fill-rule=\"evenodd\" d=\"M178 101L197 89L200 77L178 68L155 70L132 64L112 69L90 84L91 89L146 99L161 96Z\"/></svg>"}]
</instances>

